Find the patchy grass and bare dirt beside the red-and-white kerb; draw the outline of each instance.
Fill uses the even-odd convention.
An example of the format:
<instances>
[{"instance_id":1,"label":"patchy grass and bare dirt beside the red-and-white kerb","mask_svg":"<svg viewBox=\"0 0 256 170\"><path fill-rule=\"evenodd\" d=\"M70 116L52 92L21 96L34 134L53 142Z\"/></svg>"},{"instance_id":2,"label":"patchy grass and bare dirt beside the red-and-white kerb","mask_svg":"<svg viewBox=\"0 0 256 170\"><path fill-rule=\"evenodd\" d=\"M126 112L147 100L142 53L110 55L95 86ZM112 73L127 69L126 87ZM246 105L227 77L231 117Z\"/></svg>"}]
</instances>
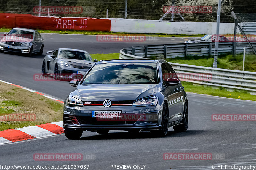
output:
<instances>
[{"instance_id":1,"label":"patchy grass and bare dirt beside the red-and-white kerb","mask_svg":"<svg viewBox=\"0 0 256 170\"><path fill-rule=\"evenodd\" d=\"M39 94L0 82L0 131L61 121L63 104ZM12 119L35 115L35 120Z\"/></svg>"}]
</instances>

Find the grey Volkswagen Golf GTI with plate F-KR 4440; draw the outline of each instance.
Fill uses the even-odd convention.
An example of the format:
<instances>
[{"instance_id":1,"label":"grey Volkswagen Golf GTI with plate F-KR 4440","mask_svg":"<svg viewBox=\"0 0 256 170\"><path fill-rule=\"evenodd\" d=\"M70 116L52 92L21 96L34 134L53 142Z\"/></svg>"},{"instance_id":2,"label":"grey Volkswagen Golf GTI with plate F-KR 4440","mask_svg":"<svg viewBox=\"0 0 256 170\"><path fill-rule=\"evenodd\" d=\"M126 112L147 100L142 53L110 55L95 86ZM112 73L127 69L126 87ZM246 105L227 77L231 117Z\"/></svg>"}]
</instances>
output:
<instances>
[{"instance_id":1,"label":"grey Volkswagen Golf GTI with plate F-KR 4440","mask_svg":"<svg viewBox=\"0 0 256 170\"><path fill-rule=\"evenodd\" d=\"M188 128L188 97L172 66L163 59L116 59L95 63L64 103L64 132L151 131L166 135Z\"/></svg>"}]
</instances>

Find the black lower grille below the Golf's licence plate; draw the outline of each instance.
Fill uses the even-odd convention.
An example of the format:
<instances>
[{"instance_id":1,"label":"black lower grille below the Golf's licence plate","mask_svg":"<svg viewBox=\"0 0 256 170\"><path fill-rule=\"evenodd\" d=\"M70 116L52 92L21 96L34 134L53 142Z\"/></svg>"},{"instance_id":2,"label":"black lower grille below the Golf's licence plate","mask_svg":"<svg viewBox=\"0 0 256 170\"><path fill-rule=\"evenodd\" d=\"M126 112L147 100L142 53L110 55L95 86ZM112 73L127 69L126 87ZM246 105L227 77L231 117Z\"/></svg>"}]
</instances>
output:
<instances>
[{"instance_id":1,"label":"black lower grille below the Golf's licence plate","mask_svg":"<svg viewBox=\"0 0 256 170\"><path fill-rule=\"evenodd\" d=\"M82 125L125 125L125 124L134 124L137 121L116 121L108 119L107 121L104 120L97 120L95 117L91 116L76 116L78 122Z\"/></svg>"}]
</instances>

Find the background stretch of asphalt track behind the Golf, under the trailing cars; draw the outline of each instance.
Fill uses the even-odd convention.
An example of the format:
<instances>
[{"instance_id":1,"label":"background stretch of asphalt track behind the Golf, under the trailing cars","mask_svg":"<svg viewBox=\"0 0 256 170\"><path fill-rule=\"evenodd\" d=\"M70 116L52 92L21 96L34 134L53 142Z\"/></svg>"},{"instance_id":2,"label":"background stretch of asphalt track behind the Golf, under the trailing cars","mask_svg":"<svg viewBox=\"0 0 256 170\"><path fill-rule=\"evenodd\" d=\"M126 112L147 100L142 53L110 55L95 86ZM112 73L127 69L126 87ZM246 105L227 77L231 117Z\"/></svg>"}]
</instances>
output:
<instances>
[{"instance_id":1,"label":"background stretch of asphalt track behind the Golf, under the trailing cars","mask_svg":"<svg viewBox=\"0 0 256 170\"><path fill-rule=\"evenodd\" d=\"M3 32L0 32L3 33ZM65 99L72 91L68 82L34 81L33 75L41 73L46 51L58 48L86 50L89 54L119 53L122 48L150 45L183 43L189 38L147 37L144 42L99 42L95 35L41 34L44 38L44 53L31 58L10 53L0 53L0 80L21 85L45 94ZM150 40L149 40L150 39Z\"/></svg>"}]
</instances>

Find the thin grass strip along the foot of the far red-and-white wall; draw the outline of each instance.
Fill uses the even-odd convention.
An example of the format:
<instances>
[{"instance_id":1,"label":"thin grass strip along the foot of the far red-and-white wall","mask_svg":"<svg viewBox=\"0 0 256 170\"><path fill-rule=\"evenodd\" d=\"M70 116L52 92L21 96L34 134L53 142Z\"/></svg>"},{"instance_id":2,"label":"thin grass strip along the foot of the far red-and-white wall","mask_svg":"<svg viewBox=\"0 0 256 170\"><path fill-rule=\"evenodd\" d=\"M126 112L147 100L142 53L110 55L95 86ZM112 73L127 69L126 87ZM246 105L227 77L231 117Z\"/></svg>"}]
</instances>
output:
<instances>
[{"instance_id":1,"label":"thin grass strip along the foot of the far red-and-white wall","mask_svg":"<svg viewBox=\"0 0 256 170\"><path fill-rule=\"evenodd\" d=\"M2 32L9 32L9 28L0 28ZM157 33L117 33L117 32L105 32L105 31L74 31L74 30L62 30L62 31L51 31L51 30L38 30L39 33L59 33L59 34L80 34L80 35L141 35L141 36L152 36L152 37L203 37L204 34L197 35L185 35L185 34L157 34Z\"/></svg>"}]
</instances>

